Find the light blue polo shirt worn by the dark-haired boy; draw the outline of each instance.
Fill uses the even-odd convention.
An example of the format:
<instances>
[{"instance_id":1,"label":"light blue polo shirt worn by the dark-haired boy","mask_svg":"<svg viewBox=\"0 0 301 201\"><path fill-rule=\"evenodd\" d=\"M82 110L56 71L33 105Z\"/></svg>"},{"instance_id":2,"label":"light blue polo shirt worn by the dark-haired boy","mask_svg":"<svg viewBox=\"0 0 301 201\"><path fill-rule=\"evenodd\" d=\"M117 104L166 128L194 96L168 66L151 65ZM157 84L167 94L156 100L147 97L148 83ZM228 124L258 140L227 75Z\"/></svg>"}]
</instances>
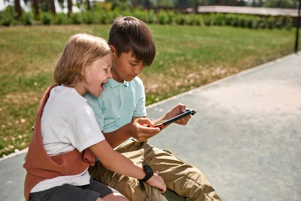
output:
<instances>
[{"instance_id":1,"label":"light blue polo shirt worn by the dark-haired boy","mask_svg":"<svg viewBox=\"0 0 301 201\"><path fill-rule=\"evenodd\" d=\"M121 128L131 122L132 117L146 116L144 86L139 77L122 83L111 78L103 85L103 89L97 98L90 93L86 93L84 97L104 133Z\"/></svg>"}]
</instances>

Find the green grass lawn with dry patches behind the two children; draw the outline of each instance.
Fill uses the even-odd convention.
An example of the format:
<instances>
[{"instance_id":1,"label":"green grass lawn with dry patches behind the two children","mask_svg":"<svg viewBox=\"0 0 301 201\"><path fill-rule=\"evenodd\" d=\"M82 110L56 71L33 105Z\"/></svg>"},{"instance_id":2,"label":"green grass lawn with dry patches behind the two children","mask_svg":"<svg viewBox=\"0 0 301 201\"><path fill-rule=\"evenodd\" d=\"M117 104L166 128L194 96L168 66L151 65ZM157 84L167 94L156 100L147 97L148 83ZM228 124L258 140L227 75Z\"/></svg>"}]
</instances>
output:
<instances>
[{"instance_id":1,"label":"green grass lawn with dry patches behind the two children","mask_svg":"<svg viewBox=\"0 0 301 201\"><path fill-rule=\"evenodd\" d=\"M150 25L157 46L140 75L146 104L292 53L295 30ZM0 157L24 149L55 63L74 33L105 39L110 26L0 28ZM301 46L301 43L300 43ZM172 106L171 106L172 107Z\"/></svg>"}]
</instances>

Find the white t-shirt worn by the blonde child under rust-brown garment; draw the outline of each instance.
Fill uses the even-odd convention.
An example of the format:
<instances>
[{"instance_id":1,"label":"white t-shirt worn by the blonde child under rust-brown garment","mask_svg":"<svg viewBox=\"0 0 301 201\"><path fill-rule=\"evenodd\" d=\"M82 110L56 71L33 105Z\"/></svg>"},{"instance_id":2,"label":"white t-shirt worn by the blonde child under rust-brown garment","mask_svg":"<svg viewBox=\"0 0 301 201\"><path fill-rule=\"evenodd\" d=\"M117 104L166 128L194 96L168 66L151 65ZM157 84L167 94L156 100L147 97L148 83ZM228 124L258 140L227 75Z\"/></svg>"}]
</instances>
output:
<instances>
[{"instance_id":1,"label":"white t-shirt worn by the blonde child under rust-brown garment","mask_svg":"<svg viewBox=\"0 0 301 201\"><path fill-rule=\"evenodd\" d=\"M75 88L56 86L51 92L41 118L44 148L49 156L84 149L101 142L101 133L92 108ZM86 169L78 175L59 176L39 182L31 192L47 190L63 184L90 183Z\"/></svg>"}]
</instances>

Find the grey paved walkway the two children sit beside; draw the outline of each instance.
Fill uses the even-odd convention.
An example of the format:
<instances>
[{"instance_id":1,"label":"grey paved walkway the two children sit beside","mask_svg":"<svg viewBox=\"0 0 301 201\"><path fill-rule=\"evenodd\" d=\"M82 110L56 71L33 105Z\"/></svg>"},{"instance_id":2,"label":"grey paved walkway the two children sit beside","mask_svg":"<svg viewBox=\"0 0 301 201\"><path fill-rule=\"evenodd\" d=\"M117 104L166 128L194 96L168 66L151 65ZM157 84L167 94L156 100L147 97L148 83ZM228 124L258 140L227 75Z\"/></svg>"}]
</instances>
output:
<instances>
[{"instance_id":1,"label":"grey paved walkway the two children sit beside","mask_svg":"<svg viewBox=\"0 0 301 201\"><path fill-rule=\"evenodd\" d=\"M202 170L234 200L301 200L301 54L289 55L148 107L198 110L150 139ZM0 161L0 200L24 200L25 154Z\"/></svg>"}]
</instances>

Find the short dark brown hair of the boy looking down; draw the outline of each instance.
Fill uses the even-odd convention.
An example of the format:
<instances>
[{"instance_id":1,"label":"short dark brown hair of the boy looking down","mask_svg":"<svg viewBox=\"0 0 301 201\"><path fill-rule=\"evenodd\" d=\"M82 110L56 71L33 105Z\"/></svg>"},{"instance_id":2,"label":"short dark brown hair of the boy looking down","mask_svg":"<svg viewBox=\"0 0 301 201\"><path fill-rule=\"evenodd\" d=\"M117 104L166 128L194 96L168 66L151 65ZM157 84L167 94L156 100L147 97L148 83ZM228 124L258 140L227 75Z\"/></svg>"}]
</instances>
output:
<instances>
[{"instance_id":1,"label":"short dark brown hair of the boy looking down","mask_svg":"<svg viewBox=\"0 0 301 201\"><path fill-rule=\"evenodd\" d=\"M150 66L156 55L152 32L144 22L134 17L116 17L108 43L114 46L118 57L131 52L143 66Z\"/></svg>"}]
</instances>

